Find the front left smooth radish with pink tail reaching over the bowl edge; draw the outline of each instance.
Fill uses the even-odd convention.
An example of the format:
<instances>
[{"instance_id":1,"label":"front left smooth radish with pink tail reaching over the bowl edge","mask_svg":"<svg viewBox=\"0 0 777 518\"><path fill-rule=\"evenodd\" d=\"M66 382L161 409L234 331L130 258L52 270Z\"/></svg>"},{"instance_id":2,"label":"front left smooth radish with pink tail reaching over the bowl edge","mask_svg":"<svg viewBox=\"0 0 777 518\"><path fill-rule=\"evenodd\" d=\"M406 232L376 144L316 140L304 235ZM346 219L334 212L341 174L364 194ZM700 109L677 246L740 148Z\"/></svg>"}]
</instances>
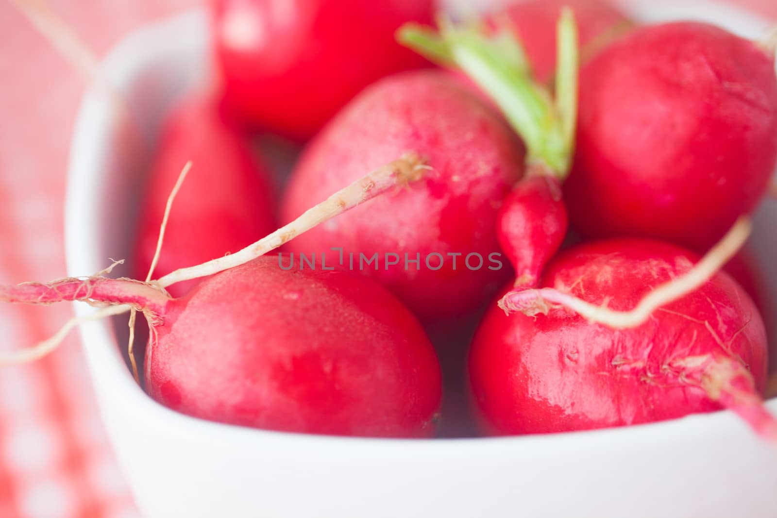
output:
<instances>
[{"instance_id":1,"label":"front left smooth radish with pink tail reaching over the bowl edge","mask_svg":"<svg viewBox=\"0 0 777 518\"><path fill-rule=\"evenodd\" d=\"M378 284L263 257L170 299L94 278L0 287L0 301L135 304L152 322L146 389L201 419L288 432L428 437L441 373L420 324Z\"/></svg>"}]
</instances>

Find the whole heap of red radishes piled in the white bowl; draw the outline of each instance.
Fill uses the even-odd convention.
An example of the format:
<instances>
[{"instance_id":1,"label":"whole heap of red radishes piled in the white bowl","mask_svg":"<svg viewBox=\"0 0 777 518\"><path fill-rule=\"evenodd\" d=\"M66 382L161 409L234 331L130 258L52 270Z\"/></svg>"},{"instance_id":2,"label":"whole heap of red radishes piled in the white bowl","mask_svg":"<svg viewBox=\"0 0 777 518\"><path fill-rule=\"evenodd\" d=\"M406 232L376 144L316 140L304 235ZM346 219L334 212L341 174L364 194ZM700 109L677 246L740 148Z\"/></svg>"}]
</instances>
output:
<instances>
[{"instance_id":1,"label":"whole heap of red radishes piled in the white bowl","mask_svg":"<svg viewBox=\"0 0 777 518\"><path fill-rule=\"evenodd\" d=\"M145 280L0 301L141 312L145 390L218 422L435 436L442 363L466 371L484 434L729 408L777 442L768 301L741 255L777 168L777 44L601 2L433 27L435 9L213 2L218 84L166 120ZM281 196L258 130L305 144Z\"/></svg>"}]
</instances>

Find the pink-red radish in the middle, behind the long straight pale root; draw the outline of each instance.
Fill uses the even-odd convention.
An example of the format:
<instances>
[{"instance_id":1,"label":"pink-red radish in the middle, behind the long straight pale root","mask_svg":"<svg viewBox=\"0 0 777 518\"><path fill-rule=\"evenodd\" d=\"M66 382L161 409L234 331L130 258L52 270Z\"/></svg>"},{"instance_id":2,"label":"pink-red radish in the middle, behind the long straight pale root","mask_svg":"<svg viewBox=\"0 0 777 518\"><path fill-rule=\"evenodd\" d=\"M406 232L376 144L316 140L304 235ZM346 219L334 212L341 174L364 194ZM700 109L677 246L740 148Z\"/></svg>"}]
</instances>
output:
<instances>
[{"instance_id":1,"label":"pink-red radish in the middle, behind the long straight pale root","mask_svg":"<svg viewBox=\"0 0 777 518\"><path fill-rule=\"evenodd\" d=\"M313 200L349 183L364 170L408 150L427 158L430 171L409 189L343 214L290 242L287 250L371 256L392 252L400 265L368 267L422 321L464 315L496 293L509 267L488 268L499 252L497 211L523 172L524 155L507 124L479 96L442 71L386 78L365 90L305 150L291 177L281 215L290 220ZM423 264L444 256L442 269ZM405 254L416 259L404 268ZM448 253L459 253L456 269ZM465 256L479 253L483 268L470 271ZM337 258L329 252L327 261ZM431 259L436 267L438 259Z\"/></svg>"}]
</instances>

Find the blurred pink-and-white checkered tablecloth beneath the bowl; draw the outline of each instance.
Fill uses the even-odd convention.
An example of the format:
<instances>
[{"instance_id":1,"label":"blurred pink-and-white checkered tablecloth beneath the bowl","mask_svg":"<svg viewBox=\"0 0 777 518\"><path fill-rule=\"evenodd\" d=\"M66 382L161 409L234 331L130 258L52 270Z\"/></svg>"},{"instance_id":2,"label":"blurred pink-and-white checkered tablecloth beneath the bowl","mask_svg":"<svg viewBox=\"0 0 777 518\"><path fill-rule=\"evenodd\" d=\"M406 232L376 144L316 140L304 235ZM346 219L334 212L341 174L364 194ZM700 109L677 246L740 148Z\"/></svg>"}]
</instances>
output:
<instances>
[{"instance_id":1,"label":"blurred pink-and-white checkered tablecloth beneath the bowl","mask_svg":"<svg viewBox=\"0 0 777 518\"><path fill-rule=\"evenodd\" d=\"M99 54L134 26L197 3L51 2ZM775 0L738 3L777 19ZM0 283L48 280L64 274L64 182L84 85L7 2L0 42ZM68 305L2 306L0 351L47 338L69 315ZM73 335L46 360L0 370L0 518L138 516L77 342Z\"/></svg>"}]
</instances>

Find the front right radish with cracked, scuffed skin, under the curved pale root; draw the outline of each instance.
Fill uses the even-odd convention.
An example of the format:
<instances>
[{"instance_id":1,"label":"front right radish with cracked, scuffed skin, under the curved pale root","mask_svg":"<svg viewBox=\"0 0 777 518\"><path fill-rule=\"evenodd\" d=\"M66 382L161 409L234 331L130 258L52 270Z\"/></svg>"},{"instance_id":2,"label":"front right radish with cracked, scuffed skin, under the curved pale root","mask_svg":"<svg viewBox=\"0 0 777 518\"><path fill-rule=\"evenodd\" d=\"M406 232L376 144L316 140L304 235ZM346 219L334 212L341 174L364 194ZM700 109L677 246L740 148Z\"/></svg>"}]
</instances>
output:
<instances>
[{"instance_id":1,"label":"front right radish with cracked, scuffed skin, under the curved pale root","mask_svg":"<svg viewBox=\"0 0 777 518\"><path fill-rule=\"evenodd\" d=\"M559 256L542 286L625 311L698 258L650 240L597 242ZM761 405L767 346L761 316L725 273L633 329L566 308L531 318L494 304L469 358L487 433L554 433L675 419L730 408L777 440Z\"/></svg>"}]
</instances>

